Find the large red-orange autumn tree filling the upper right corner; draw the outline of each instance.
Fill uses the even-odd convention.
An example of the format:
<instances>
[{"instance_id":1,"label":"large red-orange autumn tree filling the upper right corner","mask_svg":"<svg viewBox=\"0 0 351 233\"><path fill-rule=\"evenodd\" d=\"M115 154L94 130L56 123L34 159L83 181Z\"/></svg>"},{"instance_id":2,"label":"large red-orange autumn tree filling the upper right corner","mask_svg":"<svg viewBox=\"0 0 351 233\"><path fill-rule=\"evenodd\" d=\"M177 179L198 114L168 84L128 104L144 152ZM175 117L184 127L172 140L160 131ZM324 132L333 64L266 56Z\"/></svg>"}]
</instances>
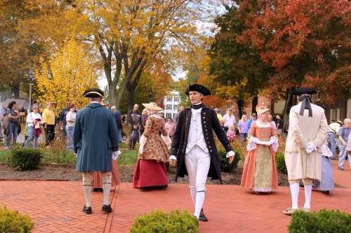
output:
<instances>
[{"instance_id":1,"label":"large red-orange autumn tree filling the upper right corner","mask_svg":"<svg viewBox=\"0 0 351 233\"><path fill-rule=\"evenodd\" d=\"M350 96L350 1L234 1L250 8L239 43L249 43L274 67L271 94L284 94L289 111L293 87L313 85L326 100ZM239 7L239 10L245 8Z\"/></svg>"}]
</instances>

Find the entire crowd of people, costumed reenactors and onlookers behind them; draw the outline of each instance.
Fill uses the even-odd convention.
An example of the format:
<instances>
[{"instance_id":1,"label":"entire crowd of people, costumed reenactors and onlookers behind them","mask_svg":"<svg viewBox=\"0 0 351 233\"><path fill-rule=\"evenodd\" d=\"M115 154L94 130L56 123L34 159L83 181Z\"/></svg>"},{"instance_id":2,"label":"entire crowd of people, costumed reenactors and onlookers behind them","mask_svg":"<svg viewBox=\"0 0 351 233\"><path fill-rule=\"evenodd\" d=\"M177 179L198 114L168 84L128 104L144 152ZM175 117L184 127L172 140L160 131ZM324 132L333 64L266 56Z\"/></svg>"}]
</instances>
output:
<instances>
[{"instance_id":1,"label":"entire crowd of people, costumed reenactors and onlookers behind them","mask_svg":"<svg viewBox=\"0 0 351 233\"><path fill-rule=\"evenodd\" d=\"M135 104L124 116L115 106L109 109L102 104L101 90L86 90L84 97L90 104L77 112L76 106L67 102L66 108L60 112L58 124L62 135L67 137L67 150L73 150L77 156L77 171L82 173L86 199L84 213L92 213L91 190L103 191L102 211L112 211L109 193L119 182L115 160L121 154L119 143L123 138L124 119L128 127L128 148L135 150L139 146L133 187L165 190L168 187L166 162L169 162L176 167L176 179L188 176L194 216L198 220L208 220L203 209L207 177L222 183L214 134L227 151L230 163L235 156L231 142L236 135L239 135L238 140L246 142L241 186L258 195L277 190L275 155L284 135L292 205L283 213L291 215L300 209L298 192L301 183L305 188L302 210L310 211L312 189L329 193L334 188L331 160L337 159L336 147L339 150L338 169L344 170L346 157L351 167L351 120L334 120L327 125L324 109L311 102L310 95L314 93L311 88L295 90L298 104L291 108L289 124L285 124L289 126L284 127L282 118L277 115L273 120L270 108L264 105L257 106L256 113L249 118L242 115L238 122L232 108L222 116L218 108L202 104L202 98L211 92L198 84L190 85L185 93L191 106L181 106L173 119L165 119L163 109L153 102L143 104L142 113ZM42 113L37 104L32 110L27 115L24 147L29 148L31 141L32 147L37 147L41 128L46 134L46 146L50 146L57 125L53 104L48 103ZM6 129L6 148L11 139L15 144L20 132L18 118L16 103L12 101L1 121Z\"/></svg>"}]
</instances>

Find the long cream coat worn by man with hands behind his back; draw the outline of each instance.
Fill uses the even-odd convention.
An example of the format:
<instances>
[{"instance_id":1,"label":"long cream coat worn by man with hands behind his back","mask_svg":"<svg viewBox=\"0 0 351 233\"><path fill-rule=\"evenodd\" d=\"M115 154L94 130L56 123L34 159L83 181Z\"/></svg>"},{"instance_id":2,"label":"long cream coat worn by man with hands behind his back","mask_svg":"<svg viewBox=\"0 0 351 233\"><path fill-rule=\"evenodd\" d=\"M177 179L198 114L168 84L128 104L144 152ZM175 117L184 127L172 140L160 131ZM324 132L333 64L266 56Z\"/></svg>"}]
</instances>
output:
<instances>
[{"instance_id":1,"label":"long cream coat worn by man with hands behind his back","mask_svg":"<svg viewBox=\"0 0 351 233\"><path fill-rule=\"evenodd\" d=\"M322 150L329 127L324 109L311 104L312 118L308 110L299 115L301 103L293 106L289 114L289 133L286 139L285 163L289 180L312 178L320 180L322 176ZM317 146L317 151L306 153L308 142Z\"/></svg>"}]
</instances>

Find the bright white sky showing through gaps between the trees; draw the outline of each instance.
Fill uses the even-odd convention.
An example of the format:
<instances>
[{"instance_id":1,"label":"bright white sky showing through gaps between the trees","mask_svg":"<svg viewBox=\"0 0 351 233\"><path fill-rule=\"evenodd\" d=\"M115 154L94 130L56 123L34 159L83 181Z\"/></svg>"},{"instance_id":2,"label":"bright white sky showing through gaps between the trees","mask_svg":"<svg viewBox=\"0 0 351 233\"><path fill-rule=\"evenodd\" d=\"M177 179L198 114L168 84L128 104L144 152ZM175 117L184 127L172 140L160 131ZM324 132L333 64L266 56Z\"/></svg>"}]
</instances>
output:
<instances>
[{"instance_id":1,"label":"bright white sky showing through gaps between the trees","mask_svg":"<svg viewBox=\"0 0 351 233\"><path fill-rule=\"evenodd\" d=\"M216 2L216 3L213 3ZM205 8L208 10L212 11L211 15L207 17L206 20L204 21L198 21L196 22L197 24L197 29L201 34L207 34L210 35L212 33L212 29L216 27L216 24L213 23L213 16L214 15L221 15L225 12L225 8L222 3L219 3L220 1L213 1L213 0L203 0L202 4ZM206 15L205 15L206 17ZM173 74L173 79L174 80L179 80L180 78L185 78L187 73L180 67L176 73ZM105 78L104 73L102 72L102 76L98 78L98 85L102 90L105 90L107 87L107 79Z\"/></svg>"}]
</instances>

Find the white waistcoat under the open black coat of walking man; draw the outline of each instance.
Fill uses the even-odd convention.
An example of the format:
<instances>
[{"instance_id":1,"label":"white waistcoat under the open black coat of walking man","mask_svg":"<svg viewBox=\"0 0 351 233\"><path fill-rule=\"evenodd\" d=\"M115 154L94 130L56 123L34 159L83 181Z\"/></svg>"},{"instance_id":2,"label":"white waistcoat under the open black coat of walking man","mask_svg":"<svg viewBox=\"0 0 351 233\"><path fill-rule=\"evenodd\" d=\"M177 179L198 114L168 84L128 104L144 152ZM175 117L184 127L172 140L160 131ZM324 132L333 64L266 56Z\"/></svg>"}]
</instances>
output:
<instances>
[{"instance_id":1,"label":"white waistcoat under the open black coat of walking man","mask_svg":"<svg viewBox=\"0 0 351 233\"><path fill-rule=\"evenodd\" d=\"M185 153L189 153L194 146L199 146L205 153L208 153L208 148L204 139L201 125L201 109L192 108L192 118L190 120L189 135L187 137L187 148Z\"/></svg>"}]
</instances>

